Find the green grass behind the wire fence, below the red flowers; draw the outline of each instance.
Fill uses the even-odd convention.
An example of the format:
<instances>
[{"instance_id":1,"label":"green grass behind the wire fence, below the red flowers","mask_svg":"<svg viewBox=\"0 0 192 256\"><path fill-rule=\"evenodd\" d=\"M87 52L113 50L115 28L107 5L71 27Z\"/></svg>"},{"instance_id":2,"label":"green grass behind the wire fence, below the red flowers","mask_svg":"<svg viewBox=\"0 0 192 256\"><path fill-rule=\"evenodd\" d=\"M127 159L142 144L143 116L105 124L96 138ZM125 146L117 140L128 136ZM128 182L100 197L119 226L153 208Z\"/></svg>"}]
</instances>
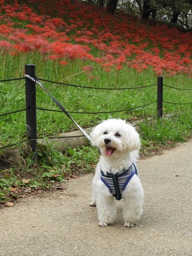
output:
<instances>
[{"instance_id":1,"label":"green grass behind the wire fence, below the red flowers","mask_svg":"<svg viewBox=\"0 0 192 256\"><path fill-rule=\"evenodd\" d=\"M24 63L23 63L24 65ZM55 73L61 72L58 67L52 66L49 63L49 72L44 65L36 66L36 75L39 78L50 79L56 81L64 81L70 84L79 84L80 86L100 87L100 88L131 88L144 87L149 84L157 83L157 77L152 71L146 70L145 73L137 74L136 71L130 70L127 72L126 67L123 70L113 71L110 73L102 72L102 70L95 70L94 75L97 79L90 80L88 74L74 73L76 75L56 79ZM79 65L79 63L78 63ZM48 63L46 63L48 66ZM59 66L60 67L60 66ZM61 67L60 67L61 68ZM76 67L77 68L77 67ZM24 66L22 66L22 70ZM42 70L44 69L44 70ZM65 70L65 69L64 69ZM65 74L63 70L63 74ZM11 76L12 78L14 76ZM118 83L115 81L117 80ZM20 75L23 77L23 75ZM8 76L7 76L8 78ZM180 89L190 89L190 80L185 75L176 75L175 77L164 77L164 83ZM49 92L64 106L67 111L75 112L109 112L105 114L71 114L72 117L83 127L94 126L99 121L107 118L122 118L132 122L135 119L144 120L146 117L152 119L156 117L156 103L139 108L137 110L123 111L137 106L142 106L147 103L156 101L157 87L148 87L135 90L95 90L84 89L70 86L63 86L60 84L52 84L42 82ZM52 99L46 94L37 84L37 107L45 109L59 110ZM191 91L180 91L164 87L163 99L168 102L187 103L191 102ZM2 113L16 111L25 108L25 80L2 82L0 87L1 93L1 110ZM113 111L122 112L110 113ZM15 113L0 117L0 141L1 145L11 144L25 139L26 136L26 117L25 112ZM191 104L176 105L163 103L163 115L170 115L177 118L169 118L169 131L162 143L166 142L166 138L173 141L182 141L184 137L188 137L191 132ZM184 119L184 121L182 121ZM158 123L158 122L157 122ZM154 124L156 125L156 124ZM166 125L160 125L163 134L166 134ZM48 112L37 110L37 136L48 137L57 136L59 133L73 131L77 129L73 122L63 113ZM148 132L153 132L153 139L159 142L159 136L154 133L152 126L148 125L147 129L141 130L141 136L148 139ZM159 134L159 133L158 133ZM170 138L171 136L171 138Z\"/></svg>"}]
</instances>

